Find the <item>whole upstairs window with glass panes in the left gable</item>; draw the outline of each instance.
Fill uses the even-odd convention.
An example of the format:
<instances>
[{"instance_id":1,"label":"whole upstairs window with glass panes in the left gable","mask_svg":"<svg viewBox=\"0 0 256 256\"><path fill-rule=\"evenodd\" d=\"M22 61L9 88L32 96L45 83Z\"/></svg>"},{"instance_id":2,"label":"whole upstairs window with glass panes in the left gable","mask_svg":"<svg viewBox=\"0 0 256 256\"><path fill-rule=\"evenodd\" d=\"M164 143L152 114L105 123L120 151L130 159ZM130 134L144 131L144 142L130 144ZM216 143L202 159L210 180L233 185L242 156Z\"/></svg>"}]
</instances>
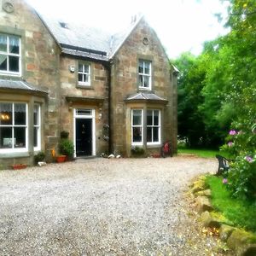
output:
<instances>
[{"instance_id":1,"label":"whole upstairs window with glass panes in the left gable","mask_svg":"<svg viewBox=\"0 0 256 256\"><path fill-rule=\"evenodd\" d=\"M20 38L0 34L0 73L21 74Z\"/></svg>"}]
</instances>

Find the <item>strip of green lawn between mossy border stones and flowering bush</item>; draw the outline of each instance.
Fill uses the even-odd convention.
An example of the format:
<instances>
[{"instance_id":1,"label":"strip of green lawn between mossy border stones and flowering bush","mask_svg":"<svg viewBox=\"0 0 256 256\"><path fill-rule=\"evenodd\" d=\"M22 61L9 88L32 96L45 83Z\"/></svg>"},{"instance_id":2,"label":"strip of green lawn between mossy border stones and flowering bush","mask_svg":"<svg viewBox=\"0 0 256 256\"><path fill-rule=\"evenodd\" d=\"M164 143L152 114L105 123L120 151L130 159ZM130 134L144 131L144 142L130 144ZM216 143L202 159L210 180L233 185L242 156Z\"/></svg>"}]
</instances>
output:
<instances>
[{"instance_id":1,"label":"strip of green lawn between mossy border stones and flowering bush","mask_svg":"<svg viewBox=\"0 0 256 256\"><path fill-rule=\"evenodd\" d=\"M212 190L212 206L235 226L256 234L256 204L232 198L222 177L207 176L206 183Z\"/></svg>"}]
</instances>

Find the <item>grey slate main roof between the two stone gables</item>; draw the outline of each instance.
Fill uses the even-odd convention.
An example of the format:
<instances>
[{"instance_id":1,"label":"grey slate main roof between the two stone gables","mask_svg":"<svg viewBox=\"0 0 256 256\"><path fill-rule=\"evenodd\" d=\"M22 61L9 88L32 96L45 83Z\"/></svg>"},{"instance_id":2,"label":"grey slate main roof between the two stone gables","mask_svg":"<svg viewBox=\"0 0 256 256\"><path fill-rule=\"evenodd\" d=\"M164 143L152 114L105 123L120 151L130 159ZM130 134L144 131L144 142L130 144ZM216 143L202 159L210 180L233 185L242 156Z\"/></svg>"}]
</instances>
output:
<instances>
[{"instance_id":1,"label":"grey slate main roof between the two stone gables","mask_svg":"<svg viewBox=\"0 0 256 256\"><path fill-rule=\"evenodd\" d=\"M61 45L62 53L102 61L108 61L114 55L142 19L137 19L137 22L132 23L123 32L111 34L98 28L65 23L45 15L39 17Z\"/></svg>"}]
</instances>

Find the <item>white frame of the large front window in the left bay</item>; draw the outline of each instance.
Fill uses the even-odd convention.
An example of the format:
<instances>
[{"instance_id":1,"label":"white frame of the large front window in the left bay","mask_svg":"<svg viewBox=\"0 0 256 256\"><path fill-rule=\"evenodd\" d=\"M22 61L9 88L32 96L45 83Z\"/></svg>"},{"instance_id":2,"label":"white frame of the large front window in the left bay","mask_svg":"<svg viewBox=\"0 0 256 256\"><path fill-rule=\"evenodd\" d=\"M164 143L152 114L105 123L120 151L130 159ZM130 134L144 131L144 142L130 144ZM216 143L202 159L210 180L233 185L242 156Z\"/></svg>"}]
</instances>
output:
<instances>
[{"instance_id":1,"label":"white frame of the large front window in the left bay","mask_svg":"<svg viewBox=\"0 0 256 256\"><path fill-rule=\"evenodd\" d=\"M0 153L20 153L20 152L27 152L28 151L28 129L27 129L27 121L28 121L28 108L27 108L27 103L26 102L1 102L1 103L10 103L12 104L12 115L13 115L13 122L11 125L0 125L0 127L11 127L12 128L12 148L0 148ZM15 104L25 104L26 105L26 125L15 125ZM25 127L26 128L26 138L25 138L25 143L26 147L25 148L15 148L15 143L14 143L14 136L15 136L15 127Z\"/></svg>"}]
</instances>

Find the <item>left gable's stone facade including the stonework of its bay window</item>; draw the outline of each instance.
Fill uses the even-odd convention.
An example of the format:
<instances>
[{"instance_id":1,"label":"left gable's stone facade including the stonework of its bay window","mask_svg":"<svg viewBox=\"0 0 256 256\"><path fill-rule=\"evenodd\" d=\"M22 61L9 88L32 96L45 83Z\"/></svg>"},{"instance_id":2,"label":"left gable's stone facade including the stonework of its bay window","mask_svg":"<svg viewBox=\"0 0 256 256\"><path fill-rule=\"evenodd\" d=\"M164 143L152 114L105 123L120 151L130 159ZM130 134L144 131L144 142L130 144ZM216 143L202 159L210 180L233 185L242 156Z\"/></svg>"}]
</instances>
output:
<instances>
[{"instance_id":1,"label":"left gable's stone facade including the stonework of its bay window","mask_svg":"<svg viewBox=\"0 0 256 256\"><path fill-rule=\"evenodd\" d=\"M50 148L55 148L58 141L60 123L60 83L59 63L61 49L50 35L48 29L38 18L36 12L23 1L12 1L14 9L11 13L3 9L0 1L0 32L19 36L21 40L21 77L0 75L0 79L26 80L36 87L44 87L48 96L33 95L26 91L1 89L0 102L26 102L28 104L28 150L25 153L0 153L0 164L3 167L15 163L33 163L33 131L32 116L35 102L41 105L42 129L41 148L50 157ZM49 158L48 157L48 158Z\"/></svg>"}]
</instances>

